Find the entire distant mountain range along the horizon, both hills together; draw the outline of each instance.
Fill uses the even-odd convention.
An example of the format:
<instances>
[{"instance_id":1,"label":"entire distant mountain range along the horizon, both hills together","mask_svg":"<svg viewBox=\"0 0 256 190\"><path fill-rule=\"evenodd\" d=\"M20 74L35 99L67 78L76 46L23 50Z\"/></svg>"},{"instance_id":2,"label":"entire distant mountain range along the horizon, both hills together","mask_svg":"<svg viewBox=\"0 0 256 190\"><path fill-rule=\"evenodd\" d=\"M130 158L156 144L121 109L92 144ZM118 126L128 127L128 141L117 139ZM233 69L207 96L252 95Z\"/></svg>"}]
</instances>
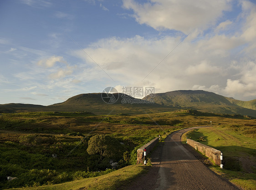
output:
<instances>
[{"instance_id":1,"label":"entire distant mountain range along the horizon, both hills together","mask_svg":"<svg viewBox=\"0 0 256 190\"><path fill-rule=\"evenodd\" d=\"M112 104L108 96L113 98ZM123 101L129 99L130 102ZM105 100L105 102L102 100ZM149 101L149 102L147 102ZM154 103L152 103L154 101ZM131 104L133 102L133 104ZM136 102L136 103L134 103ZM70 97L65 102L50 106L33 104L0 104L0 112L25 112L25 111L87 111L96 114L139 114L152 112L168 112L175 109L190 108L201 112L241 114L256 117L256 99L240 101L231 97L224 97L203 90L178 90L167 93L148 95L142 100L122 93L87 93Z\"/></svg>"}]
</instances>

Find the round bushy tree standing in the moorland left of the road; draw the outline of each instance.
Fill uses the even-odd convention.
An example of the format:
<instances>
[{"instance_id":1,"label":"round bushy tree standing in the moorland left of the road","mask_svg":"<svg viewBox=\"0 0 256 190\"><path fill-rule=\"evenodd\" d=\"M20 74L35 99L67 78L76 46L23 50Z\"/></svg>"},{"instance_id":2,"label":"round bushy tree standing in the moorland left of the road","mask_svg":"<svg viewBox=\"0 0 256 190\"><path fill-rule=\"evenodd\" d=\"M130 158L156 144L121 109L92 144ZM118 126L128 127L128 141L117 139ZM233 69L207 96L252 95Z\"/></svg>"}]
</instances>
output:
<instances>
[{"instance_id":1,"label":"round bushy tree standing in the moorland left of the road","mask_svg":"<svg viewBox=\"0 0 256 190\"><path fill-rule=\"evenodd\" d=\"M103 157L114 158L120 152L119 141L108 135L95 135L88 141L87 152L89 155L99 154Z\"/></svg>"}]
</instances>

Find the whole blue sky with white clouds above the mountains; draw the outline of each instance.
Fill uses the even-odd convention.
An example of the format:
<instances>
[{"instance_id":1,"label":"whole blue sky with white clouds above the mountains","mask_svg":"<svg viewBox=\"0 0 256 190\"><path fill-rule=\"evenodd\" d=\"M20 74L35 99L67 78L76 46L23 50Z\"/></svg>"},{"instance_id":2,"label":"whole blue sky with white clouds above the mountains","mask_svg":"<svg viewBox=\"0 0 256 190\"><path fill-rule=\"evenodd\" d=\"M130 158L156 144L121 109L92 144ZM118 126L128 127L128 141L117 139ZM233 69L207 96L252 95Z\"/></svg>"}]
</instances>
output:
<instances>
[{"instance_id":1,"label":"whole blue sky with white clouds above the mountains","mask_svg":"<svg viewBox=\"0 0 256 190\"><path fill-rule=\"evenodd\" d=\"M0 0L0 104L106 87L256 99L256 1Z\"/></svg>"}]
</instances>

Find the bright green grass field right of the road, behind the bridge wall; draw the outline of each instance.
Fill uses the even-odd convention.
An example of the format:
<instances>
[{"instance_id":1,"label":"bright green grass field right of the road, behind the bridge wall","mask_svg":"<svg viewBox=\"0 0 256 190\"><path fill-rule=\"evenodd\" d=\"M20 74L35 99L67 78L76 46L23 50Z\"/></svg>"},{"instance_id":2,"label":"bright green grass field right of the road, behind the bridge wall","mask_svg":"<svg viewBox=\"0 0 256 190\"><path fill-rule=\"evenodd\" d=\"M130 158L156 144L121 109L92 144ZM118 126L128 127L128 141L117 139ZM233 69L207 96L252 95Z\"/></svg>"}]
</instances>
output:
<instances>
[{"instance_id":1,"label":"bright green grass field right of the road, behind the bridge wall","mask_svg":"<svg viewBox=\"0 0 256 190\"><path fill-rule=\"evenodd\" d=\"M256 125L225 124L190 131L188 138L223 152L224 169L216 173L243 189L256 189Z\"/></svg>"}]
</instances>

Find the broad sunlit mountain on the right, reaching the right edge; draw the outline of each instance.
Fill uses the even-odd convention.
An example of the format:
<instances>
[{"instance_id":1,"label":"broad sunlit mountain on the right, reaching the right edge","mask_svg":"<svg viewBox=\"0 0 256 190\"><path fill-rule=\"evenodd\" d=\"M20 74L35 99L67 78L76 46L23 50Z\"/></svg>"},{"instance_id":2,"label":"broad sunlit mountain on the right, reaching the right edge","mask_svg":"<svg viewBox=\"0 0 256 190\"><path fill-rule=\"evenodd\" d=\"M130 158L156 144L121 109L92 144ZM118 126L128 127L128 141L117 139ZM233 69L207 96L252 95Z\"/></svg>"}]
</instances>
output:
<instances>
[{"instance_id":1,"label":"broad sunlit mountain on the right, reaching the right edge","mask_svg":"<svg viewBox=\"0 0 256 190\"><path fill-rule=\"evenodd\" d=\"M153 99L162 106L188 107L201 112L215 112L225 114L242 114L256 117L255 101L239 101L203 90L178 90L167 93L156 93L154 97L148 95L143 99Z\"/></svg>"}]
</instances>

